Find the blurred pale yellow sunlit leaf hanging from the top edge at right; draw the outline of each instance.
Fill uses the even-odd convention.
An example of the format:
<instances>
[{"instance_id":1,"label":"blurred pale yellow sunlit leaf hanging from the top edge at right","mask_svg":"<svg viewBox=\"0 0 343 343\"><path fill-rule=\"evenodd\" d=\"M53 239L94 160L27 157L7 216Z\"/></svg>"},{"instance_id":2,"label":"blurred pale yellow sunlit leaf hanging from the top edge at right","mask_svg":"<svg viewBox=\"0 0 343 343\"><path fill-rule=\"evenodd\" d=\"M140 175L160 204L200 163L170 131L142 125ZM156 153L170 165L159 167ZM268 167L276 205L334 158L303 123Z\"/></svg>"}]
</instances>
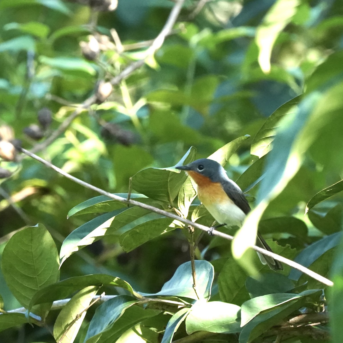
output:
<instances>
[{"instance_id":1,"label":"blurred pale yellow sunlit leaf hanging from the top edge at right","mask_svg":"<svg viewBox=\"0 0 343 343\"><path fill-rule=\"evenodd\" d=\"M260 50L258 61L263 72L270 72L270 56L274 42L291 21L299 4L299 0L277 0L257 27L255 39Z\"/></svg>"}]
</instances>

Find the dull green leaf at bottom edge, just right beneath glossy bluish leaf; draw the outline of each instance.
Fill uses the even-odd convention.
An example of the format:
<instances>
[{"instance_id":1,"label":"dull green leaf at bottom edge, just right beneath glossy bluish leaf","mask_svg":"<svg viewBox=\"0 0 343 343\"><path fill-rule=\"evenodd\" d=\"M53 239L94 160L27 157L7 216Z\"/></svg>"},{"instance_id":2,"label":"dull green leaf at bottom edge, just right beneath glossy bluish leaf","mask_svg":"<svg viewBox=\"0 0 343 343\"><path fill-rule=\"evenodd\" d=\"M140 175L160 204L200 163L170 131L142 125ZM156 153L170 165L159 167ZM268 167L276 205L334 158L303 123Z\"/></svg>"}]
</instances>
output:
<instances>
[{"instance_id":1,"label":"dull green leaf at bottom edge, just right beneath glossy bluish leaf","mask_svg":"<svg viewBox=\"0 0 343 343\"><path fill-rule=\"evenodd\" d=\"M97 343L113 343L130 328L141 323L145 319L156 316L161 313L160 310L145 308L133 305L125 310L123 315L117 319L116 325L102 333ZM144 336L145 337L145 336Z\"/></svg>"}]
</instances>

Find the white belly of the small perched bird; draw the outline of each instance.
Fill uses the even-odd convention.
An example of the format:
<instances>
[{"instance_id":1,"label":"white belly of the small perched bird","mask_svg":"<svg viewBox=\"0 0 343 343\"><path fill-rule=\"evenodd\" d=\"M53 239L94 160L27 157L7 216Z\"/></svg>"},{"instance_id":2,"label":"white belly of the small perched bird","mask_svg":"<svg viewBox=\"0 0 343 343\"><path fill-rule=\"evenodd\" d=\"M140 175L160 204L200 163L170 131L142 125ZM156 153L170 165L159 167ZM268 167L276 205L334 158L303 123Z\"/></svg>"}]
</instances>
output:
<instances>
[{"instance_id":1,"label":"white belly of the small perched bird","mask_svg":"<svg viewBox=\"0 0 343 343\"><path fill-rule=\"evenodd\" d=\"M234 203L226 202L219 205L204 204L206 209L212 214L218 224L227 224L227 226L241 226L245 213Z\"/></svg>"}]
</instances>

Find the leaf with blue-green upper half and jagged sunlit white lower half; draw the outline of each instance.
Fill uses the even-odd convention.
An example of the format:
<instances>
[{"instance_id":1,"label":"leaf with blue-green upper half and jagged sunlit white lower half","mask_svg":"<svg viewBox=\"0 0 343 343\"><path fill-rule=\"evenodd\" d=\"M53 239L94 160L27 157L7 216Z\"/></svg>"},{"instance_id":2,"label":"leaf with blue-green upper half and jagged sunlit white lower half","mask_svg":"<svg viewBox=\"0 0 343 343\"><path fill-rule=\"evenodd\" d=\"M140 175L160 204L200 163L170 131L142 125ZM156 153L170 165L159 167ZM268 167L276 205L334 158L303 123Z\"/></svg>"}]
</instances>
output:
<instances>
[{"instance_id":1,"label":"leaf with blue-green upper half and jagged sunlit white lower half","mask_svg":"<svg viewBox=\"0 0 343 343\"><path fill-rule=\"evenodd\" d=\"M79 251L104 237L116 215L125 210L127 210L127 208L99 215L73 230L62 243L60 250L60 266L74 252Z\"/></svg>"}]
</instances>

